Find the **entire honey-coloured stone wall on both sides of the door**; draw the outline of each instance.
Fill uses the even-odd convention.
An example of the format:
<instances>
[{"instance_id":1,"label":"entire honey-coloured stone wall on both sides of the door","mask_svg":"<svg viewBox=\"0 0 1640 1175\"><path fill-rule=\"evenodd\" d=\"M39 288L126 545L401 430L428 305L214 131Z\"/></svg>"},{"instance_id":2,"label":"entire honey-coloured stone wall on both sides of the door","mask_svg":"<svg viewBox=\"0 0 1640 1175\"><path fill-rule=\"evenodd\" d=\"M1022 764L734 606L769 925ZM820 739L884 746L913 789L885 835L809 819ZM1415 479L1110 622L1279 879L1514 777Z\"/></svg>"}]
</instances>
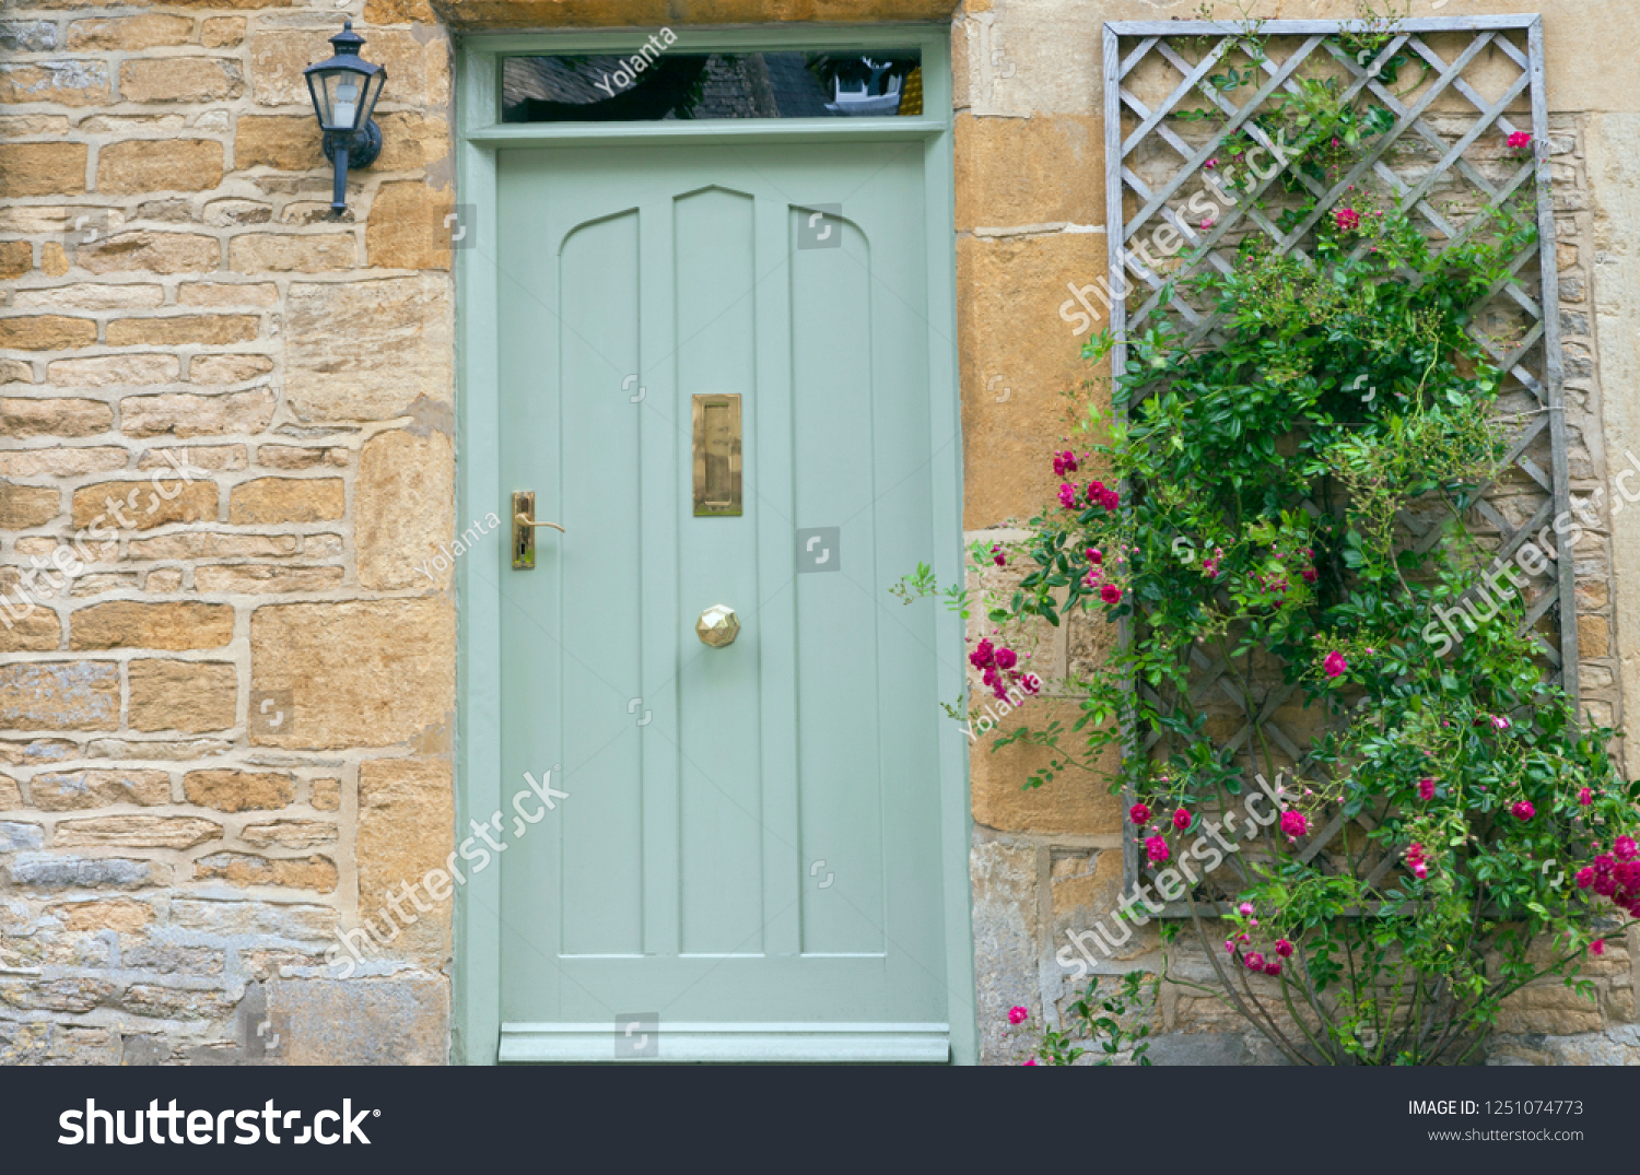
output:
<instances>
[{"instance_id":1,"label":"entire honey-coloured stone wall on both sides of the door","mask_svg":"<svg viewBox=\"0 0 1640 1175\"><path fill-rule=\"evenodd\" d=\"M453 832L454 603L448 572L421 570L456 533L446 23L943 20L951 7L5 0L0 587L34 603L0 624L0 1062L448 1057L448 905L349 980L321 965L336 931L392 901ZM1610 454L1640 452L1640 95L1624 36L1640 13L1451 0L1438 15L1537 7L1566 139L1555 174L1586 492L1620 467ZM1017 534L1053 493L1059 393L1097 374L1058 306L1068 282L1105 269L1100 21L1194 10L968 0L953 20L969 538ZM390 80L384 154L353 175L336 223L300 70L344 15ZM1620 719L1622 698L1640 715L1640 660L1620 644L1640 511L1604 541L1609 562L1579 567L1584 683ZM39 564L64 544L74 574L48 593L57 577ZM1069 626L1035 664L1092 660L1109 639ZM1025 749L974 749L977 1014L994 1062L1018 1054L1005 1008L1058 1016L1053 950L1122 880L1104 782L1022 792L1030 769ZM1155 939L1130 946L1122 967L1156 970ZM1607 952L1592 1009L1527 993L1501 1055L1640 1059L1632 957ZM1179 991L1156 1026L1159 1060L1268 1055Z\"/></svg>"}]
</instances>

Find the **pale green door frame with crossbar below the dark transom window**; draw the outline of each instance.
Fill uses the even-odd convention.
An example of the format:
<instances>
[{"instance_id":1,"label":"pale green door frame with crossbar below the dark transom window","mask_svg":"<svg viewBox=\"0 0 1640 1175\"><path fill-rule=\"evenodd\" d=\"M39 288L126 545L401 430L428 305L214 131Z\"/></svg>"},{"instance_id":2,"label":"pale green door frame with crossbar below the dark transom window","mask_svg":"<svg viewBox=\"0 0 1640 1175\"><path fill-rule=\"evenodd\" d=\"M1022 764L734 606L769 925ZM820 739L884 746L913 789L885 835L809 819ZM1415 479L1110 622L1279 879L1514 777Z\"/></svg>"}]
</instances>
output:
<instances>
[{"instance_id":1,"label":"pale green door frame with crossbar below the dark transom window","mask_svg":"<svg viewBox=\"0 0 1640 1175\"><path fill-rule=\"evenodd\" d=\"M964 575L963 428L956 359L956 197L951 134L951 26L802 25L764 28L682 28L677 51L723 52L799 49L922 51L923 115L904 118L712 120L674 123L502 123L502 59L520 54L635 52L651 29L476 33L456 48L456 192L467 205L471 247L453 251L456 280L458 518L505 515L495 457L500 454L500 282L497 169L503 147L649 146L733 143L922 141L928 215L928 390L930 477L935 510L933 570L941 583ZM930 115L928 111L935 111ZM472 459L467 459L469 454ZM502 528L507 529L505 524ZM482 559L454 569L456 656L456 839L474 813L503 808L500 778L502 582L508 572L505 536ZM905 570L912 570L907 567ZM887 585L884 585L887 588ZM887 600L887 597L884 597ZM932 606L932 605L923 605ZM966 631L961 616L936 610L940 695L966 685ZM974 995L974 934L969 878L973 808L968 741L956 723L940 723L940 862L945 906L951 1060L976 1064L979 1024ZM517 783L517 782L515 782ZM517 790L517 788L513 788ZM500 1046L500 869L472 873L456 891L451 1062L497 1062Z\"/></svg>"}]
</instances>

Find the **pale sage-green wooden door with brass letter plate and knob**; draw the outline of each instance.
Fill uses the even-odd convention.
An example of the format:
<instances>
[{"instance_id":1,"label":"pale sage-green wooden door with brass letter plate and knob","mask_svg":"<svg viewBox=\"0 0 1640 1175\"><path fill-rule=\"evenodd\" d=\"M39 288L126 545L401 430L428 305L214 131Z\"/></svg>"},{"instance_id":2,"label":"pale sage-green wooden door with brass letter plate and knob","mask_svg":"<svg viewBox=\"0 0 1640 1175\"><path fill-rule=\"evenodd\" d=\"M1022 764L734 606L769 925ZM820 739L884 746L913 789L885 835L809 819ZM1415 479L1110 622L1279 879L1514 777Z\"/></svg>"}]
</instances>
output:
<instances>
[{"instance_id":1,"label":"pale sage-green wooden door with brass letter plate and knob","mask_svg":"<svg viewBox=\"0 0 1640 1175\"><path fill-rule=\"evenodd\" d=\"M958 538L923 193L922 144L500 154L500 479L566 528L502 572L502 792L569 793L500 859L503 1060L946 1059L935 618L887 595Z\"/></svg>"}]
</instances>

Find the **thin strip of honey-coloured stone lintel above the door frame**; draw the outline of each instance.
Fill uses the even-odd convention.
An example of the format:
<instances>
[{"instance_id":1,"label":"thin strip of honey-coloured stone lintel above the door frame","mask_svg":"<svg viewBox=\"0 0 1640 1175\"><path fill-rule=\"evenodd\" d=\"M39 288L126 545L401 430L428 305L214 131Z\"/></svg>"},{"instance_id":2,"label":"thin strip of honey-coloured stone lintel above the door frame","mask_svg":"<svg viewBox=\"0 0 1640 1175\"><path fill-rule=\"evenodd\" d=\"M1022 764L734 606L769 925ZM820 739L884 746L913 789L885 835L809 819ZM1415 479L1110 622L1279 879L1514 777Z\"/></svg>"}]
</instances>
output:
<instances>
[{"instance_id":1,"label":"thin strip of honey-coloured stone lintel above the door frame","mask_svg":"<svg viewBox=\"0 0 1640 1175\"><path fill-rule=\"evenodd\" d=\"M456 31L946 20L958 0L431 0Z\"/></svg>"}]
</instances>

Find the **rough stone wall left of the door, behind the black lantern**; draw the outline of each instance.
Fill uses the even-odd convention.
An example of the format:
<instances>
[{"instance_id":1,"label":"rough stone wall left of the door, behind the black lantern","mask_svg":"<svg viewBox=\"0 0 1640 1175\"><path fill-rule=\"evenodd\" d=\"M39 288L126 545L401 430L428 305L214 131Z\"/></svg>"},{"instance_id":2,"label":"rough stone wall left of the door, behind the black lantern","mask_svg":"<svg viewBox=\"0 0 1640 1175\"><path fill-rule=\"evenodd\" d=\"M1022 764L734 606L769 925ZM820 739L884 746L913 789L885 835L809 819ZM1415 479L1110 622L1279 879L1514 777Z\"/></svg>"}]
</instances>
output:
<instances>
[{"instance_id":1,"label":"rough stone wall left of the door, behind the black lantern","mask_svg":"<svg viewBox=\"0 0 1640 1175\"><path fill-rule=\"evenodd\" d=\"M385 147L336 221L302 69L348 15ZM448 905L315 978L454 823L430 16L7 3L0 1062L448 1055Z\"/></svg>"}]
</instances>

